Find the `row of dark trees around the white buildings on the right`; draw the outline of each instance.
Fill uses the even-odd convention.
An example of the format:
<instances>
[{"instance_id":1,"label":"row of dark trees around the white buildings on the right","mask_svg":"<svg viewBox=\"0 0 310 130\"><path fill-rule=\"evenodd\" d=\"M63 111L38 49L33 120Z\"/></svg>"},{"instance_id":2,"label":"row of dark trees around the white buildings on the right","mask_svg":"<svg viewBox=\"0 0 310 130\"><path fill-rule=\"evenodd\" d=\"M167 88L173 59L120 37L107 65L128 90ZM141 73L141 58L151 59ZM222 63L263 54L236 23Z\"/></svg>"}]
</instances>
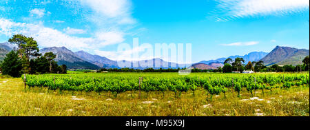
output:
<instances>
[{"instance_id":1,"label":"row of dark trees around the white buildings on the right","mask_svg":"<svg viewBox=\"0 0 310 130\"><path fill-rule=\"evenodd\" d=\"M231 73L233 71L243 72L245 70L253 70L254 72L301 72L309 71L309 56L306 56L302 61L303 65L271 65L269 67L264 65L263 61L249 61L247 65L243 64L245 60L243 58L236 58L233 61L231 58L227 58L224 62L223 72ZM218 68L221 69L221 68Z\"/></svg>"}]
</instances>

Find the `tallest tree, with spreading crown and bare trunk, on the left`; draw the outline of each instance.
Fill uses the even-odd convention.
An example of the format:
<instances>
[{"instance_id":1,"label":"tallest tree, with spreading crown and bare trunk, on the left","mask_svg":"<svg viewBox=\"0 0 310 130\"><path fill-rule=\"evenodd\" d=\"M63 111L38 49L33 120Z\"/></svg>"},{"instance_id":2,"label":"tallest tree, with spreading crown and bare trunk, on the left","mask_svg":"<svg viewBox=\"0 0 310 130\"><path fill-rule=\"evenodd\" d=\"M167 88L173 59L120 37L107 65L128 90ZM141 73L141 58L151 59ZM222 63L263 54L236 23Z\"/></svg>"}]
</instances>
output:
<instances>
[{"instance_id":1,"label":"tallest tree, with spreading crown and bare trunk, on the left","mask_svg":"<svg viewBox=\"0 0 310 130\"><path fill-rule=\"evenodd\" d=\"M18 47L18 56L22 58L23 72L30 72L30 56L40 56L39 47L37 41L34 41L32 37L23 36L22 34L15 34L9 43L15 44Z\"/></svg>"}]
</instances>

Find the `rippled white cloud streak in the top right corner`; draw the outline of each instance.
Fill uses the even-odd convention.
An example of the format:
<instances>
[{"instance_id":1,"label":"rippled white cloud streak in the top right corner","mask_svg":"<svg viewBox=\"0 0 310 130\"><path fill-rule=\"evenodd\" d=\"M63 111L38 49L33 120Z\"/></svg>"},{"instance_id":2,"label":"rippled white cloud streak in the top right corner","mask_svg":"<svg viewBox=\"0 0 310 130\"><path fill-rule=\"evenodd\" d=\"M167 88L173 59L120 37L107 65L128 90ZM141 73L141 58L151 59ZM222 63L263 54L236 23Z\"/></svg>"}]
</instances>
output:
<instances>
[{"instance_id":1,"label":"rippled white cloud streak in the top right corner","mask_svg":"<svg viewBox=\"0 0 310 130\"><path fill-rule=\"evenodd\" d=\"M309 10L309 0L217 0L216 21L242 17L282 16Z\"/></svg>"}]
</instances>

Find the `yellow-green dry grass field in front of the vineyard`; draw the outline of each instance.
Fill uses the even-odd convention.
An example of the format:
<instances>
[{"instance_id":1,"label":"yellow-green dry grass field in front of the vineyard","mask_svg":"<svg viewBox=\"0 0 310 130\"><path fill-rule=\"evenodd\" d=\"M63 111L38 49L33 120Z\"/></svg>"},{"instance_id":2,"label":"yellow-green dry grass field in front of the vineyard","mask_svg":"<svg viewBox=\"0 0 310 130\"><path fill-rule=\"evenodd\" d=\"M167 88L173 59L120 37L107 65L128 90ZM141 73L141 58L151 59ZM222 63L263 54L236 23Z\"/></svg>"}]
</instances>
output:
<instances>
[{"instance_id":1,"label":"yellow-green dry grass field in front of the vineyard","mask_svg":"<svg viewBox=\"0 0 310 130\"><path fill-rule=\"evenodd\" d=\"M0 116L309 116L309 87L248 91L214 96L198 89L175 98L157 91L126 91L116 98L110 92L58 91L43 87L24 89L21 78L0 78Z\"/></svg>"}]
</instances>

